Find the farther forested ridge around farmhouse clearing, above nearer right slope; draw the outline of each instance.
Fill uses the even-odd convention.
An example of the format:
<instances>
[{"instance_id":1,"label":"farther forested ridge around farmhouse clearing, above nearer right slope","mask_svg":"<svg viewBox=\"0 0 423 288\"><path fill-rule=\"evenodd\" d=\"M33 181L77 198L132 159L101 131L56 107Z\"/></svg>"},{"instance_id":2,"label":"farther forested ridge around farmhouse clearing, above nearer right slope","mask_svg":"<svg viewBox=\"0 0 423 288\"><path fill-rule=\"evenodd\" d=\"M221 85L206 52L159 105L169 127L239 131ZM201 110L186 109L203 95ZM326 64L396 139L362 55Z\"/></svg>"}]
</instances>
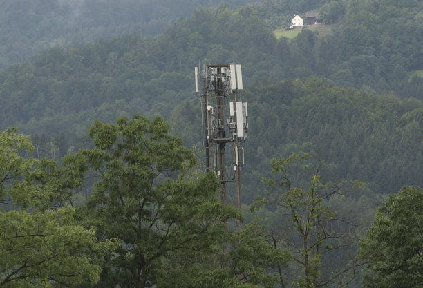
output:
<instances>
[{"instance_id":1,"label":"farther forested ridge around farmhouse clearing, above nearer right slope","mask_svg":"<svg viewBox=\"0 0 423 288\"><path fill-rule=\"evenodd\" d=\"M135 112L149 117L160 113L169 119L172 109L191 95L189 75L199 60L236 60L245 67L245 80L320 75L343 86L377 93L395 90L400 97L421 99L421 77L408 82L408 71L420 70L423 59L416 50L423 40L417 3L414 9L412 4L389 3L377 10L356 2L345 6L344 1L330 1L328 9L345 6L345 12L339 10L345 21L326 27L326 32L304 29L292 41L276 41L263 13L287 8L285 13L291 15L297 9L315 10L323 1L263 1L234 10L225 5L202 8L158 37L125 35L68 50L46 50L29 63L0 73L0 125L52 135L88 128L96 118L111 122ZM135 2L126 4L116 12ZM28 9L41 12L34 5ZM97 7L98 3L81 5ZM379 15L389 9L394 11L390 17ZM76 118L81 120L75 122ZM57 155L53 146L45 150Z\"/></svg>"}]
</instances>

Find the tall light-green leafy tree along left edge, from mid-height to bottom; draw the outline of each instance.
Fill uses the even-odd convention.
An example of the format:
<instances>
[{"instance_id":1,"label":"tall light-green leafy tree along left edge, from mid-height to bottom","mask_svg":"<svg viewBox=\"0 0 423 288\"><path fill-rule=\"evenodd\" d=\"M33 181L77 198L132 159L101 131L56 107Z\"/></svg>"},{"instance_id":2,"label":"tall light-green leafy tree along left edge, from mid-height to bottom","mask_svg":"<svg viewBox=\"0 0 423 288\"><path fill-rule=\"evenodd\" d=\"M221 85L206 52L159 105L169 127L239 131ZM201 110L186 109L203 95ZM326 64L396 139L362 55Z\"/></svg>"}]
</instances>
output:
<instances>
[{"instance_id":1,"label":"tall light-green leafy tree along left edge, from mid-height to bottom","mask_svg":"<svg viewBox=\"0 0 423 288\"><path fill-rule=\"evenodd\" d=\"M26 151L32 144L16 128L0 133L0 287L94 284L114 244L75 224L75 209L50 209L59 186L37 181L48 170Z\"/></svg>"}]
</instances>

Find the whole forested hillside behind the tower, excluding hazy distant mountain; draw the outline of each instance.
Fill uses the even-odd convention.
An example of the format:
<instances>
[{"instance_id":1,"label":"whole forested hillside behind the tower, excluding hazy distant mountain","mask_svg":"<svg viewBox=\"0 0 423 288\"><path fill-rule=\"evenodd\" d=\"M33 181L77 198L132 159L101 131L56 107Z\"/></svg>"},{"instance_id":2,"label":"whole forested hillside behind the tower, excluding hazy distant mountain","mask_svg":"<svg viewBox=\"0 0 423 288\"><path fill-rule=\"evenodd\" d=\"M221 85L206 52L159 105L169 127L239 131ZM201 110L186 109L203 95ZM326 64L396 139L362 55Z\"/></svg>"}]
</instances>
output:
<instances>
[{"instance_id":1,"label":"whole forested hillside behind the tower, excluding hazy distant mountain","mask_svg":"<svg viewBox=\"0 0 423 288\"><path fill-rule=\"evenodd\" d=\"M354 3L345 7L344 21L329 34L305 29L292 41L276 40L270 24L252 6L231 10L220 5L196 10L158 37L127 35L48 50L0 73L1 127L17 125L33 135L37 157L59 159L84 145L84 135L96 118L112 122L120 115L160 113L187 144L200 146L200 100L193 93L193 67L198 60L236 61L243 64L244 97L252 109L247 157L256 165L246 167L251 173L244 182L246 202L254 198L270 158L305 143L304 150L328 163L332 177L369 182L377 193L403 184L421 185L421 102L408 97L422 100L423 81L416 76L410 82L406 71L422 67L415 57L422 26L415 25L410 33L390 33L389 43L402 41L404 35L412 40L393 50L371 37L387 33L382 19L388 20L375 20L377 25L361 21L359 15L368 11L368 4ZM398 10L402 14L397 18L411 19L407 25L417 21L420 3L390 4L373 12ZM361 54L363 37L348 40L353 31L362 35L357 29L368 31L374 44L366 45L374 55ZM402 60L394 65L393 59ZM395 73L393 66L402 73ZM326 84L291 80L313 75L329 78ZM365 79L375 89L364 85ZM379 90L376 83L382 82L377 79L385 83L380 89L401 93L370 94L369 89Z\"/></svg>"}]
</instances>

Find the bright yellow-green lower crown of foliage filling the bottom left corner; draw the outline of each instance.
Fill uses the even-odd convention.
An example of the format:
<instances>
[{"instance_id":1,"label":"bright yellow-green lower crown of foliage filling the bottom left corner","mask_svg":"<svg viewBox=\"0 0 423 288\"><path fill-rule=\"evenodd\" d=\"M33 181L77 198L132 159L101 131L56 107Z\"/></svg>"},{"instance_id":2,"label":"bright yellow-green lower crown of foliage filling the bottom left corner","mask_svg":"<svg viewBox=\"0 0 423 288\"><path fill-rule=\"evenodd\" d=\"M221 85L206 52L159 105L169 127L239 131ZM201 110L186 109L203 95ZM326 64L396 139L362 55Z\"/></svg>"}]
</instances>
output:
<instances>
[{"instance_id":1,"label":"bright yellow-green lower crown of foliage filling the bottom left corner","mask_svg":"<svg viewBox=\"0 0 423 288\"><path fill-rule=\"evenodd\" d=\"M75 211L0 212L0 287L81 287L99 280L113 248L73 224Z\"/></svg>"}]
</instances>

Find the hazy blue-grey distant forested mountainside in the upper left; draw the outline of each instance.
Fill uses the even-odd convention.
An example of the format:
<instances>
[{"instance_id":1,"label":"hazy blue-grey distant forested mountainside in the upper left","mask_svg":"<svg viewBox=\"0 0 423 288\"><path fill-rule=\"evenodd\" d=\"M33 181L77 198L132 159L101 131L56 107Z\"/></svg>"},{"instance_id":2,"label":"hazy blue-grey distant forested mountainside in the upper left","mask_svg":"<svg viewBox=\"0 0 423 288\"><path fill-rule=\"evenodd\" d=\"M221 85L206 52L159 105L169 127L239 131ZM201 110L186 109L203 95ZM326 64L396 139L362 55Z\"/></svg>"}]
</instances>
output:
<instances>
[{"instance_id":1,"label":"hazy blue-grey distant forested mountainside in the upper left","mask_svg":"<svg viewBox=\"0 0 423 288\"><path fill-rule=\"evenodd\" d=\"M0 8L0 69L43 50L126 34L158 35L194 9L221 0L4 0ZM241 6L248 0L225 1Z\"/></svg>"}]
</instances>

